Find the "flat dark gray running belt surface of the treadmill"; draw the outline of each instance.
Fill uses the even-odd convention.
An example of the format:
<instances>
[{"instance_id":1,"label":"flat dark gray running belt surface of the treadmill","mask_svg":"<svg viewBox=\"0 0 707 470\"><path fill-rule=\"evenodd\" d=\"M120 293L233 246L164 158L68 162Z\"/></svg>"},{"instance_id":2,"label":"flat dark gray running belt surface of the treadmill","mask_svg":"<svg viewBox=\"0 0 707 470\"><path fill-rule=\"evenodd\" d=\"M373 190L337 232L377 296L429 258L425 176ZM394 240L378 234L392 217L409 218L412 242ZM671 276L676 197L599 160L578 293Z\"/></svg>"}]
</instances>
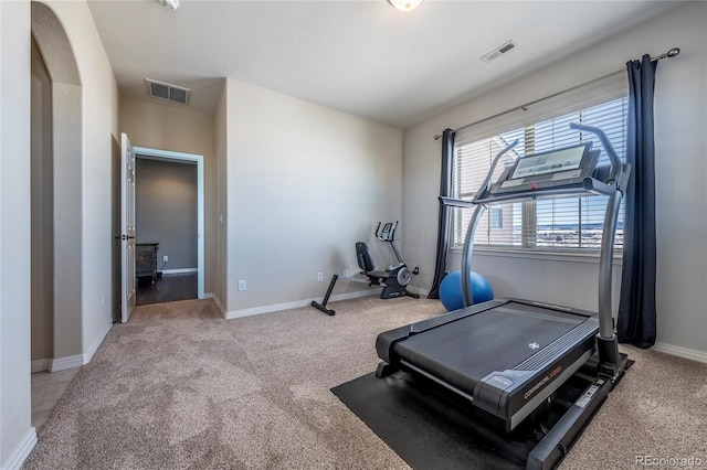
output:
<instances>
[{"instance_id":1,"label":"flat dark gray running belt surface of the treadmill","mask_svg":"<svg viewBox=\"0 0 707 470\"><path fill-rule=\"evenodd\" d=\"M410 335L394 351L471 393L489 373L515 367L585 320L510 302Z\"/></svg>"}]
</instances>

